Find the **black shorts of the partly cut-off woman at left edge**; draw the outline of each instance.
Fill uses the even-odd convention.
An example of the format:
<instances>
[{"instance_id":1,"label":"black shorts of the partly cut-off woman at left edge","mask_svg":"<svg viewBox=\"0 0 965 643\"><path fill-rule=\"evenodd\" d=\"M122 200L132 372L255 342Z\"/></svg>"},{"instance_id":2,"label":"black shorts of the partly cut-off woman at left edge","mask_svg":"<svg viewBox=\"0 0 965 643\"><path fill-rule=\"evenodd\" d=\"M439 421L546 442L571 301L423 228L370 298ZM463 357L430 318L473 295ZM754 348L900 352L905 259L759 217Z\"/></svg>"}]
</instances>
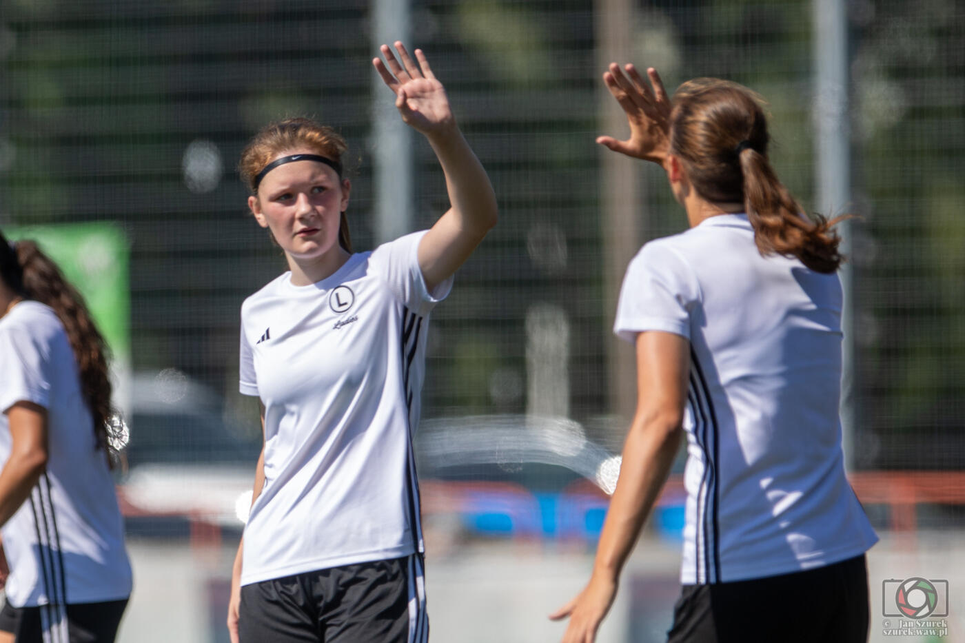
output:
<instances>
[{"instance_id":1,"label":"black shorts of the partly cut-off woman at left edge","mask_svg":"<svg viewBox=\"0 0 965 643\"><path fill-rule=\"evenodd\" d=\"M113 643L127 600L77 602L69 605L14 607L0 610L0 631L16 643Z\"/></svg>"}]
</instances>

